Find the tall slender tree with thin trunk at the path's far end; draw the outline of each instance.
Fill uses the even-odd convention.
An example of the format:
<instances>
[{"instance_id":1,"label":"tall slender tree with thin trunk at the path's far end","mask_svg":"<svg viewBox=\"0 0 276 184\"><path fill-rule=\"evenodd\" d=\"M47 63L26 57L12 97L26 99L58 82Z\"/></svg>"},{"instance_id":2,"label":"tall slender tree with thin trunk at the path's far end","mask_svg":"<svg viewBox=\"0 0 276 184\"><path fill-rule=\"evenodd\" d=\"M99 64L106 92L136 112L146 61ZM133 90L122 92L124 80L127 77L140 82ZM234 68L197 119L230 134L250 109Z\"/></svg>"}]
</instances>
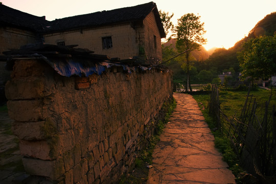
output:
<instances>
[{"instance_id":1,"label":"tall slender tree with thin trunk at the path's far end","mask_svg":"<svg viewBox=\"0 0 276 184\"><path fill-rule=\"evenodd\" d=\"M186 65L187 65L187 81L186 81L186 91L188 91L188 86L190 91L192 91L191 81L190 81L190 54L193 50L199 50L201 44L206 42L203 37L204 33L204 22L201 23L199 20L200 16L196 16L193 13L187 13L183 15L177 21L177 26L174 29L176 33L176 48L179 53L186 52Z\"/></svg>"}]
</instances>

